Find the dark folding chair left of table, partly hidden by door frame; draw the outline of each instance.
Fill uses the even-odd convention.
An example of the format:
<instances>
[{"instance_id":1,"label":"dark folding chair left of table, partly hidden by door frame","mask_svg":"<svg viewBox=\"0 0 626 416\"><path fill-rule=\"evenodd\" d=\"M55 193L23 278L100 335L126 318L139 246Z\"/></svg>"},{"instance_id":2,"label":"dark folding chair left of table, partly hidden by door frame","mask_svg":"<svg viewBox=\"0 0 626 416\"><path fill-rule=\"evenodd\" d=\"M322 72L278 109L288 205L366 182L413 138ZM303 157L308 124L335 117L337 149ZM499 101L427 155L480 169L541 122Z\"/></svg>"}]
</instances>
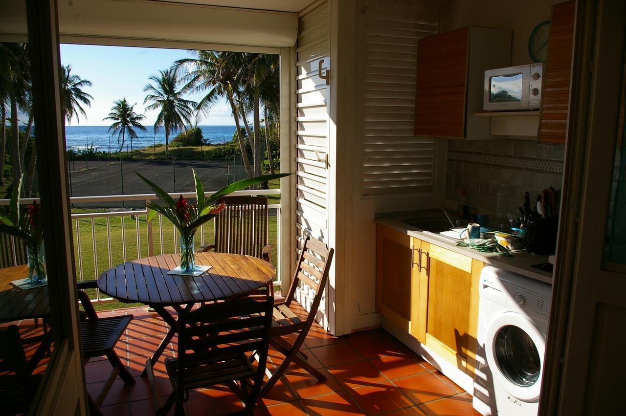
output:
<instances>
[{"instance_id":1,"label":"dark folding chair left of table, partly hidden by door frame","mask_svg":"<svg viewBox=\"0 0 626 416\"><path fill-rule=\"evenodd\" d=\"M83 357L85 357L86 364L91 358L105 355L111 363L113 370L107 378L105 385L101 388L100 393L98 393L98 397L95 399L88 397L91 415L101 414L98 409L105 400L106 394L109 392L118 375L120 375L120 378L126 384L135 383L135 378L121 362L120 357L118 357L114 349L115 344L118 342L121 335L123 335L126 327L128 327L128 324L133 320L133 315L99 318L87 293L83 292L85 289L94 289L97 287L98 282L96 282L96 280L78 282L78 299L85 310L85 313L81 314L80 322Z\"/></svg>"}]
</instances>

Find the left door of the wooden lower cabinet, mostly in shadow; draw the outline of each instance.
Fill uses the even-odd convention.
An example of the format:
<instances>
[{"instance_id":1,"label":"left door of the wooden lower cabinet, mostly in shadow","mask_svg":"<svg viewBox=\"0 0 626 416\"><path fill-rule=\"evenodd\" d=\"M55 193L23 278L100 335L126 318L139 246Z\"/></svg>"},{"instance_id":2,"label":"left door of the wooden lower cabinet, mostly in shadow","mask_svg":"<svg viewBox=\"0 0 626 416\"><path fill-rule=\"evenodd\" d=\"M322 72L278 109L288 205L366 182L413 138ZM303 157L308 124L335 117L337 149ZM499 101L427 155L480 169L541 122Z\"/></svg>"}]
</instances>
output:
<instances>
[{"instance_id":1,"label":"left door of the wooden lower cabinet, mostly in shadow","mask_svg":"<svg viewBox=\"0 0 626 416\"><path fill-rule=\"evenodd\" d=\"M376 308L420 342L426 340L428 276L423 241L376 226Z\"/></svg>"}]
</instances>

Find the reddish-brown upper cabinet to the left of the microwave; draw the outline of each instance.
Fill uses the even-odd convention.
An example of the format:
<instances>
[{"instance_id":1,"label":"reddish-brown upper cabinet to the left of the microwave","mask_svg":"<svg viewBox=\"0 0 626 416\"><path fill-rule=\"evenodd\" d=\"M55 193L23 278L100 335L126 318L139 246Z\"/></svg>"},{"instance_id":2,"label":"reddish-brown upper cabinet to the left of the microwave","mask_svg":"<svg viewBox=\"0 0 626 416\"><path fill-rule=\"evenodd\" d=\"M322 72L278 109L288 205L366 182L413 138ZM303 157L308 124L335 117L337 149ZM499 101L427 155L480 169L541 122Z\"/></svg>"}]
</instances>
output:
<instances>
[{"instance_id":1,"label":"reddish-brown upper cabinet to the left of the microwave","mask_svg":"<svg viewBox=\"0 0 626 416\"><path fill-rule=\"evenodd\" d=\"M509 66L511 31L463 28L419 39L416 136L490 139L483 111L485 70Z\"/></svg>"}]
</instances>

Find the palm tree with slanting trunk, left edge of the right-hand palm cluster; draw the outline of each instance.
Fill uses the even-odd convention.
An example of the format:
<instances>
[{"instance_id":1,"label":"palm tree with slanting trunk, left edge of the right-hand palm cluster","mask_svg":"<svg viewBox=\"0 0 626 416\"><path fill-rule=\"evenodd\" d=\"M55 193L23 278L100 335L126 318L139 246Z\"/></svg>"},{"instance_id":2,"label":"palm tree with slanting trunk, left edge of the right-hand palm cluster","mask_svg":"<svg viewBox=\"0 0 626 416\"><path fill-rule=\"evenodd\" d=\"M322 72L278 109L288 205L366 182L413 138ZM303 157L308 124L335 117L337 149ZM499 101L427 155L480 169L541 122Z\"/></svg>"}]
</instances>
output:
<instances>
[{"instance_id":1,"label":"palm tree with slanting trunk, left edge of the right-hand palm cluster","mask_svg":"<svg viewBox=\"0 0 626 416\"><path fill-rule=\"evenodd\" d=\"M198 102L196 111L208 115L220 97L228 99L232 109L237 131L237 140L241 150L242 161L249 178L252 168L244 144L244 134L240 124L240 85L239 68L244 66L244 55L235 52L190 51L196 58L178 59L172 68L184 71L182 80L186 82L183 89L192 93L207 91ZM245 111L245 110L244 110ZM245 115L245 114L244 114ZM244 123L245 125L245 123ZM246 126L247 128L247 126ZM252 143L252 142L251 142Z\"/></svg>"}]
</instances>

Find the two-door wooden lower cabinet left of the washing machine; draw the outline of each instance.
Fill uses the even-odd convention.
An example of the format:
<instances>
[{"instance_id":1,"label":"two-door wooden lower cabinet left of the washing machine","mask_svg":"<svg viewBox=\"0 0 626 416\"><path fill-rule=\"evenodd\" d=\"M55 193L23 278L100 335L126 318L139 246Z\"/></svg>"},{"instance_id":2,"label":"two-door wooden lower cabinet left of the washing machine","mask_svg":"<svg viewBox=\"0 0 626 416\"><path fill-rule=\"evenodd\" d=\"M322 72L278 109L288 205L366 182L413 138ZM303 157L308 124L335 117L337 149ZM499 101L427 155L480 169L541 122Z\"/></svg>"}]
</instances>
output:
<instances>
[{"instance_id":1,"label":"two-door wooden lower cabinet left of the washing machine","mask_svg":"<svg viewBox=\"0 0 626 416\"><path fill-rule=\"evenodd\" d=\"M481 261L377 225L376 307L473 377Z\"/></svg>"}]
</instances>

